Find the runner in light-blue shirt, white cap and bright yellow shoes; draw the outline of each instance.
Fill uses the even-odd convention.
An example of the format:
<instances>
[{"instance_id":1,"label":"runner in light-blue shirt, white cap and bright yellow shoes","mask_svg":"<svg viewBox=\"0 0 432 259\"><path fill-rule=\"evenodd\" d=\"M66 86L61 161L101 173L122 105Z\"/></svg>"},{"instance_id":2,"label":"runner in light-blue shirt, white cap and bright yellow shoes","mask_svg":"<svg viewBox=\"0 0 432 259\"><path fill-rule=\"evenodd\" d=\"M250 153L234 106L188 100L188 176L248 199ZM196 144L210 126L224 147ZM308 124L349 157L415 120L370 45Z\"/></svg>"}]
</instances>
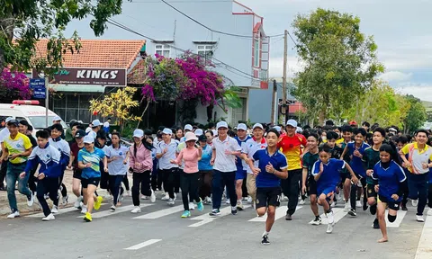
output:
<instances>
[{"instance_id":1,"label":"runner in light-blue shirt, white cap and bright yellow shoes","mask_svg":"<svg viewBox=\"0 0 432 259\"><path fill-rule=\"evenodd\" d=\"M84 137L84 147L78 152L78 167L83 169L81 177L83 180L84 204L87 207L84 220L92 221L92 210L99 210L102 204L102 196L94 195L97 185L101 181L100 162L103 160L103 170L108 172L108 165L105 153L102 149L94 147L94 138L92 136Z\"/></svg>"}]
</instances>

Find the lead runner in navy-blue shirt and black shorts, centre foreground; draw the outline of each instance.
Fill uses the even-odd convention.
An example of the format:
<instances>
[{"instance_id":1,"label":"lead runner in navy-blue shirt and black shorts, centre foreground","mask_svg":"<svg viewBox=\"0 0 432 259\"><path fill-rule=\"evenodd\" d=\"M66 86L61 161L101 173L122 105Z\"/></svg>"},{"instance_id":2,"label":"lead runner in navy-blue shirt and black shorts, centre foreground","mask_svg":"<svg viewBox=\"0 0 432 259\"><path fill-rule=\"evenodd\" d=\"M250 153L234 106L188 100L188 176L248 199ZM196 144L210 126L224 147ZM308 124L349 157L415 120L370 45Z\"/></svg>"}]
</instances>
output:
<instances>
[{"instance_id":1,"label":"lead runner in navy-blue shirt and black shorts, centre foreground","mask_svg":"<svg viewBox=\"0 0 432 259\"><path fill-rule=\"evenodd\" d=\"M267 212L266 228L261 245L269 245L268 233L275 223L276 207L281 199L281 180L288 178L288 165L284 154L277 150L279 132L276 129L267 131L266 149L257 150L252 159L247 161L252 172L257 175L257 214L264 216ZM258 161L258 167L254 166Z\"/></svg>"}]
</instances>

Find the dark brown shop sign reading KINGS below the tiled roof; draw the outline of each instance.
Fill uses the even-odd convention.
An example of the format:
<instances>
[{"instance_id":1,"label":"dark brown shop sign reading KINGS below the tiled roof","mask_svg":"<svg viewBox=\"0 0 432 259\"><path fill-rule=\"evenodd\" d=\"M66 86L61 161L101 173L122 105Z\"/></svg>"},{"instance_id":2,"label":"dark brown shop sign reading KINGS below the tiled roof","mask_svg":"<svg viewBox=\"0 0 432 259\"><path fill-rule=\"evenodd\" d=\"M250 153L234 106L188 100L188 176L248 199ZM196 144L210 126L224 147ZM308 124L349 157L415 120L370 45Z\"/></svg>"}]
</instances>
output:
<instances>
[{"instance_id":1,"label":"dark brown shop sign reading KINGS below the tiled roof","mask_svg":"<svg viewBox=\"0 0 432 259\"><path fill-rule=\"evenodd\" d=\"M63 67L49 79L49 84L126 86L126 75L124 68ZM31 77L41 76L33 69Z\"/></svg>"}]
</instances>

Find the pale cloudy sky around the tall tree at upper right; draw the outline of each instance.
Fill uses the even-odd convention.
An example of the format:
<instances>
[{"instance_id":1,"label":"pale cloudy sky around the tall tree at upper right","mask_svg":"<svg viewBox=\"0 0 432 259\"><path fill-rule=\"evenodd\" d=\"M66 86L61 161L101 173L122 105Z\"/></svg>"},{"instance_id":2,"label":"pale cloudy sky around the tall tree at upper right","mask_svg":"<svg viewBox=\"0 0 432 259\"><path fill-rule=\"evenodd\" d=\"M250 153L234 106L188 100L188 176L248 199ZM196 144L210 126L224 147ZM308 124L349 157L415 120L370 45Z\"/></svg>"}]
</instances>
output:
<instances>
[{"instance_id":1,"label":"pale cloudy sky around the tall tree at upper right","mask_svg":"<svg viewBox=\"0 0 432 259\"><path fill-rule=\"evenodd\" d=\"M373 35L378 45L378 60L385 72L380 75L398 93L413 94L432 102L432 1L422 0L243 0L239 1L264 17L266 34L293 32L298 13L307 14L318 7L360 18L360 31ZM293 34L292 34L293 35ZM295 36L294 36L295 40ZM301 67L288 41L289 76ZM284 40L271 43L270 76L283 72Z\"/></svg>"}]
</instances>

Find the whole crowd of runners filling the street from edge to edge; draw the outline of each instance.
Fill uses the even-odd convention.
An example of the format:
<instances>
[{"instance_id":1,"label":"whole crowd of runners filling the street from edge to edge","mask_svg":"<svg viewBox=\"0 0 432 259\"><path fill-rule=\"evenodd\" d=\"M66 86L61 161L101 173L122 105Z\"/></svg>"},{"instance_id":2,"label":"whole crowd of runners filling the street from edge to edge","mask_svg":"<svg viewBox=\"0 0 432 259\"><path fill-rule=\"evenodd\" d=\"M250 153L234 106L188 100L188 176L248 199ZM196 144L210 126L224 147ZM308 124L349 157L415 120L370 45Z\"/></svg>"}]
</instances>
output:
<instances>
[{"instance_id":1,"label":"whole crowd of runners filling the street from edge to edge","mask_svg":"<svg viewBox=\"0 0 432 259\"><path fill-rule=\"evenodd\" d=\"M162 127L156 137L151 130L135 129L133 143L125 147L121 135L110 131L109 121L95 120L88 128L71 121L67 130L60 121L57 117L48 129L36 132L37 139L27 121L8 118L0 131L0 188L7 189L12 210L8 219L20 216L16 183L29 206L37 198L42 220L55 219L58 202L68 200L62 183L66 169L73 170L74 205L87 222L103 202L98 187L112 195L111 211L130 195L131 213L141 212L142 199L156 202L156 192L163 190L159 198L168 206L181 193L181 218L204 206L211 206L210 215L218 217L225 199L232 215L245 208L244 202L251 203L258 217L267 215L263 245L270 244L275 210L283 200L288 200L285 219L293 220L298 203L304 204L308 197L312 225L321 224L322 207L329 222L327 233L335 226L332 208L338 202L345 202L344 210L352 217L359 208L369 210L376 216L372 227L382 231L380 243L388 241L385 218L395 221L398 210L408 210L408 199L417 207L419 222L425 221L426 206L432 208L432 138L426 129L409 136L395 126L384 129L368 122L360 126L356 121L341 127L327 121L314 129L300 128L294 120L251 128L239 123L233 129L220 121L211 129L189 124ZM133 179L131 192L128 173Z\"/></svg>"}]
</instances>

